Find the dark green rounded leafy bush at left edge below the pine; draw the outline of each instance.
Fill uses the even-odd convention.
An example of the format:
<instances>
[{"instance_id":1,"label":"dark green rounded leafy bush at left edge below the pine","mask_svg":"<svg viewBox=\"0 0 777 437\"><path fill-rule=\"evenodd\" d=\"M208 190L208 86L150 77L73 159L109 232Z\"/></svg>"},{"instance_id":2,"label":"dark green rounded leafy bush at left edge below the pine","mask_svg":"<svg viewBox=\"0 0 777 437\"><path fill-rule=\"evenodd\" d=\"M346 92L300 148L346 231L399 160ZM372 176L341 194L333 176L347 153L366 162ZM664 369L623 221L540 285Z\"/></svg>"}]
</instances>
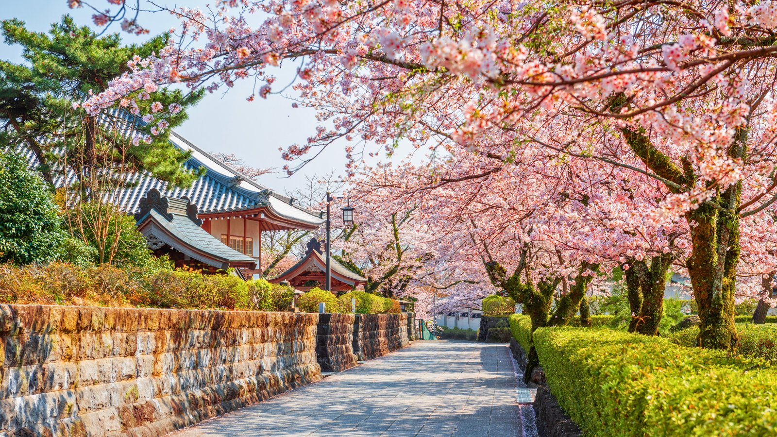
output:
<instances>
[{"instance_id":1,"label":"dark green rounded leafy bush at left edge below the pine","mask_svg":"<svg viewBox=\"0 0 777 437\"><path fill-rule=\"evenodd\" d=\"M46 263L67 239L44 181L19 156L0 152L0 262Z\"/></svg>"}]
</instances>

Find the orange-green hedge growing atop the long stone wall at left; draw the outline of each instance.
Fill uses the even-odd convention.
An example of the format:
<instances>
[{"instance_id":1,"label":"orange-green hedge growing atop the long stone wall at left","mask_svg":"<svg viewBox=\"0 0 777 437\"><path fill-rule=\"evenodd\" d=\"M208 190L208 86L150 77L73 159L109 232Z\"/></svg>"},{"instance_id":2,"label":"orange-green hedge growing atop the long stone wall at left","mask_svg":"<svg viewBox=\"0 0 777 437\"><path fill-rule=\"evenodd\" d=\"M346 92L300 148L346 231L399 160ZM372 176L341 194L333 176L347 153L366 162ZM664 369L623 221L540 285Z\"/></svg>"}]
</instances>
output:
<instances>
[{"instance_id":1,"label":"orange-green hedge growing atop the long stone wall at left","mask_svg":"<svg viewBox=\"0 0 777 437\"><path fill-rule=\"evenodd\" d=\"M0 264L0 302L266 311L291 306L291 288L263 279L242 281L234 274L166 270L164 263L157 270L110 264Z\"/></svg>"}]
</instances>

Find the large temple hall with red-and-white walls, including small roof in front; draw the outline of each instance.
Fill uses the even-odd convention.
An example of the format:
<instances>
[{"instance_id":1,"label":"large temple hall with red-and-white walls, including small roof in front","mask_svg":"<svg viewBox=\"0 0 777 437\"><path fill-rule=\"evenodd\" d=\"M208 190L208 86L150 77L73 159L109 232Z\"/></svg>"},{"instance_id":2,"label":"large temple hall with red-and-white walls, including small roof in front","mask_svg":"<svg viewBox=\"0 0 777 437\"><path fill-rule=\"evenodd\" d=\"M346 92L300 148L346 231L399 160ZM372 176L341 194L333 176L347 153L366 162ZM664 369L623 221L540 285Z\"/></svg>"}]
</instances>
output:
<instances>
[{"instance_id":1,"label":"large temple hall with red-and-white walls, including small roof in front","mask_svg":"<svg viewBox=\"0 0 777 437\"><path fill-rule=\"evenodd\" d=\"M223 271L235 267L243 278L260 274L262 232L284 229L318 229L322 212L296 205L294 198L277 194L232 170L214 156L172 132L170 142L188 152L184 164L190 170L205 169L191 187L169 186L147 174L134 173L128 186L110 198L134 214L148 246L166 253L176 267ZM23 150L27 163L37 168L35 154ZM75 175L59 173L56 187L64 187Z\"/></svg>"}]
</instances>

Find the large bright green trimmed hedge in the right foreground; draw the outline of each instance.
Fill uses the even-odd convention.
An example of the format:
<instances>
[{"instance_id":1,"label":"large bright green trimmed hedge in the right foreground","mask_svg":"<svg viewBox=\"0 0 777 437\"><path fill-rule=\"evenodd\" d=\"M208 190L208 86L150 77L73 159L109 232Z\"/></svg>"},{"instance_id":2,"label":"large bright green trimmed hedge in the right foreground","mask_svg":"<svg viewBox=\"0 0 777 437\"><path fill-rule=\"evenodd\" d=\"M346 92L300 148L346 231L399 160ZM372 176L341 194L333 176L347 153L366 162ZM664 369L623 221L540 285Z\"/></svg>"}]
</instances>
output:
<instances>
[{"instance_id":1,"label":"large bright green trimmed hedge in the right foreground","mask_svg":"<svg viewBox=\"0 0 777 437\"><path fill-rule=\"evenodd\" d=\"M585 435L775 435L761 360L607 328L534 334L550 390Z\"/></svg>"}]
</instances>

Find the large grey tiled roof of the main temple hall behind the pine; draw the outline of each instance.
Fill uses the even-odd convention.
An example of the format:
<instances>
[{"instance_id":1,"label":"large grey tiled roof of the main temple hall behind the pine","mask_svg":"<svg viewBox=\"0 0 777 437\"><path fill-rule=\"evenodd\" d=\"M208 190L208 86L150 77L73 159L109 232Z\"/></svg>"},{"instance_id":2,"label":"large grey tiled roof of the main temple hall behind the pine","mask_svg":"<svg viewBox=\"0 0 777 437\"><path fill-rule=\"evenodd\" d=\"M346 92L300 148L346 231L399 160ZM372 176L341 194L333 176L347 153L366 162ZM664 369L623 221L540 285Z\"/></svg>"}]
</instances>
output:
<instances>
[{"instance_id":1,"label":"large grey tiled roof of the main temple hall behind the pine","mask_svg":"<svg viewBox=\"0 0 777 437\"><path fill-rule=\"evenodd\" d=\"M124 114L124 115L123 115ZM123 123L126 128L122 130L126 134L133 130L132 124L142 124L142 121L134 120L126 112L113 111L110 115L110 123ZM108 121L106 121L108 123ZM289 225L296 225L300 229L316 229L324 223L321 212L312 212L300 205L294 205L294 199L282 194L274 193L262 185L250 180L249 177L232 170L221 163L211 154L193 145L181 135L172 131L170 142L176 148L190 153L190 159L184 163L188 170L197 170L204 167L207 171L204 177L195 180L189 188L169 186L165 181L158 180L147 174L134 173L127 182L129 187L123 188L115 198L111 198L114 204L122 210L130 213L140 211L140 200L151 189L168 198L189 198L197 205L200 215L223 214L234 212L249 212L260 210L268 215L277 215ZM45 138L39 138L45 141ZM218 148L218 145L213 145ZM37 166L35 154L30 149L20 149L30 166ZM66 174L55 172L54 185L64 187L75 182L75 173L68 170ZM293 226L290 226L293 227Z\"/></svg>"}]
</instances>

